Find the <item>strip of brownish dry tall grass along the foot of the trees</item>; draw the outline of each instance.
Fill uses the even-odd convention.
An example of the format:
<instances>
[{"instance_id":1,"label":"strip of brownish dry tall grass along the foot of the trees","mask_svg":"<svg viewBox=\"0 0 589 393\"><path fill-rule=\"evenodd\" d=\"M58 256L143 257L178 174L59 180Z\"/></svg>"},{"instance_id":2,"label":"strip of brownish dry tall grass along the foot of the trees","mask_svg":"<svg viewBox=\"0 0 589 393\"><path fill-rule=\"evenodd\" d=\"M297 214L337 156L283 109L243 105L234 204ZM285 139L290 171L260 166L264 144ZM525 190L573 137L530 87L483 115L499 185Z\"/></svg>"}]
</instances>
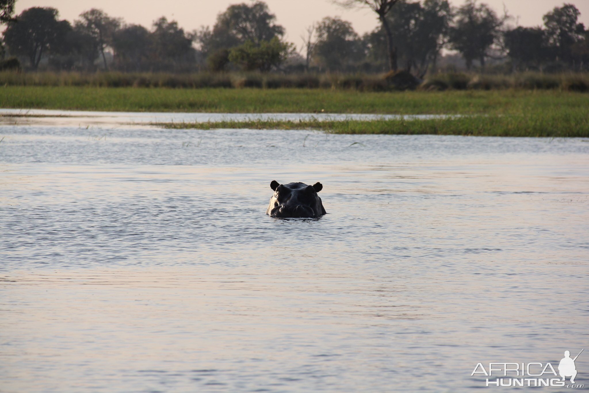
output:
<instances>
[{"instance_id":1,"label":"strip of brownish dry tall grass along the foot of the trees","mask_svg":"<svg viewBox=\"0 0 589 393\"><path fill-rule=\"evenodd\" d=\"M415 87L418 80L402 73L377 74L265 74L261 72L20 72L16 62L0 71L0 85L92 86L135 88L323 88L332 90L392 91ZM393 82L394 80L394 82ZM444 90L563 90L589 92L588 73L541 74L522 72L509 75L447 72L426 75L417 86L421 91Z\"/></svg>"}]
</instances>

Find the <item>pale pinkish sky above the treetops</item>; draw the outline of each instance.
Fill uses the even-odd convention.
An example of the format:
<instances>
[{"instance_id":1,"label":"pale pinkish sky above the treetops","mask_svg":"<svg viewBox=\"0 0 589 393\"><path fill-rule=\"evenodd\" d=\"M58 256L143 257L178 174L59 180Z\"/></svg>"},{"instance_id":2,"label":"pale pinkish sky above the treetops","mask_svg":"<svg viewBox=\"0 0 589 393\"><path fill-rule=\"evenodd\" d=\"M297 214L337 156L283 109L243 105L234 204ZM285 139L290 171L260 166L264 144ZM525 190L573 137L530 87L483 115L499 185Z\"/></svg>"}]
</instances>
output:
<instances>
[{"instance_id":1,"label":"pale pinkish sky above the treetops","mask_svg":"<svg viewBox=\"0 0 589 393\"><path fill-rule=\"evenodd\" d=\"M61 19L73 21L82 12L90 8L100 8L110 16L122 17L125 22L151 27L151 23L160 16L176 20L186 31L197 29L201 25L212 26L217 14L231 4L249 2L250 0L17 0L16 14L32 6L51 6L59 10ZM450 0L452 5L461 5L464 0ZM482 0L499 14L503 5L509 14L518 17L518 24L535 26L542 24L542 15L555 6L561 6L561 0ZM589 27L589 0L568 0L581 11L580 22ZM342 9L330 0L266 0L270 11L276 15L277 23L286 28L286 38L297 45L301 44L300 35L305 27L325 16L340 16L352 22L361 35L376 27L375 14L368 9ZM512 24L515 24L515 19Z\"/></svg>"}]
</instances>

